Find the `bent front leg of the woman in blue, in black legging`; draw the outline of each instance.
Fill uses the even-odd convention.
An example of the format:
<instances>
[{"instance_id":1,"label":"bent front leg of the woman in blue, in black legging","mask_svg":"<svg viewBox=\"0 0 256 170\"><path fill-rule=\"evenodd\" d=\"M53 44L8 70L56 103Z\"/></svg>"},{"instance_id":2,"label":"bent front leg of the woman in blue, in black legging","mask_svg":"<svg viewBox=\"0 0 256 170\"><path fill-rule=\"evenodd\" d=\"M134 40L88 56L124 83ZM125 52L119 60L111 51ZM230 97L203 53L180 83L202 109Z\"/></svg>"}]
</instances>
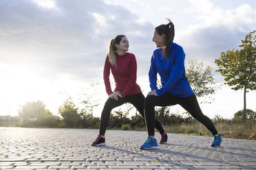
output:
<instances>
[{"instance_id":1,"label":"bent front leg of the woman in blue, in black legging","mask_svg":"<svg viewBox=\"0 0 256 170\"><path fill-rule=\"evenodd\" d=\"M171 95L164 94L160 97L149 95L145 99L145 119L149 136L154 136L155 106L172 106L177 104L177 99Z\"/></svg>"}]
</instances>

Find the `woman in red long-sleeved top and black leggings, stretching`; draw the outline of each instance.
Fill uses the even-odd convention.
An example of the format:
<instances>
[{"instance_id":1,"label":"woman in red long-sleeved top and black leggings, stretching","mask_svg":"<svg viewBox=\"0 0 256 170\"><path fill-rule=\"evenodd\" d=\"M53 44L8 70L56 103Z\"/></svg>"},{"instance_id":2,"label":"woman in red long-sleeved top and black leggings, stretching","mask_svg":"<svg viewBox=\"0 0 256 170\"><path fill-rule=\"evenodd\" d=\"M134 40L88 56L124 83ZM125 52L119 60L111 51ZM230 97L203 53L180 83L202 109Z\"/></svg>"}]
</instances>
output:
<instances>
[{"instance_id":1,"label":"woman in red long-sleeved top and black leggings, stretching","mask_svg":"<svg viewBox=\"0 0 256 170\"><path fill-rule=\"evenodd\" d=\"M109 43L109 53L105 60L104 82L109 98L107 99L100 118L100 134L92 143L92 146L105 145L105 132L109 122L110 112L113 108L121 106L127 102L134 107L144 117L145 97L141 93L140 87L136 84L137 63L133 53L128 53L129 42L124 35L118 35ZM114 92L111 90L109 74L111 73L116 82ZM155 122L156 129L161 134L160 143L167 143L167 134L160 121Z\"/></svg>"}]
</instances>

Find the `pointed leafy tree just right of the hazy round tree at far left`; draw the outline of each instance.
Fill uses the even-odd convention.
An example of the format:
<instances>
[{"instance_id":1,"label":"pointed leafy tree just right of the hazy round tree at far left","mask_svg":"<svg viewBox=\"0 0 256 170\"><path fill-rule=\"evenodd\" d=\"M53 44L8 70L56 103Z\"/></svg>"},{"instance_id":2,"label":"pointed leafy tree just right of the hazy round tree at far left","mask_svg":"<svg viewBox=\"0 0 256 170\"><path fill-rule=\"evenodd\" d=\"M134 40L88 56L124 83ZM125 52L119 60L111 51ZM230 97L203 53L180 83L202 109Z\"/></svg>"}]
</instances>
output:
<instances>
[{"instance_id":1,"label":"pointed leafy tree just right of the hazy round tree at far left","mask_svg":"<svg viewBox=\"0 0 256 170\"><path fill-rule=\"evenodd\" d=\"M64 102L63 106L58 108L58 113L63 117L63 121L67 127L78 127L78 121L80 116L78 115L78 108L76 108L71 97L68 97Z\"/></svg>"}]
</instances>

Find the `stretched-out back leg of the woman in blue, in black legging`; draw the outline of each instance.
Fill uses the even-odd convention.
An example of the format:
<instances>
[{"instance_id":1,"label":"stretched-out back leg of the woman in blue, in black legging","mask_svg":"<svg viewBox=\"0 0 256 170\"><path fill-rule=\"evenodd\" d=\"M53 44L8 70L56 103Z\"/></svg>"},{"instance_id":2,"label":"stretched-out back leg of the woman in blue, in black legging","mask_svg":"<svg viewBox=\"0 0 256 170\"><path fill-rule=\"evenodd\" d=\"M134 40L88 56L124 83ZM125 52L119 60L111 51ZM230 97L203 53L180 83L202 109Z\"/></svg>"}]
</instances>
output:
<instances>
[{"instance_id":1,"label":"stretched-out back leg of the woman in blue, in black legging","mask_svg":"<svg viewBox=\"0 0 256 170\"><path fill-rule=\"evenodd\" d=\"M200 109L200 106L198 104L198 100L196 99L195 95L191 95L189 97L179 97L180 106L182 106L186 111L188 111L193 118L198 120L200 123L205 125L205 127L213 134L217 134L217 130L215 128L215 125L213 125L213 121L209 119L209 117L206 117L202 110Z\"/></svg>"}]
</instances>

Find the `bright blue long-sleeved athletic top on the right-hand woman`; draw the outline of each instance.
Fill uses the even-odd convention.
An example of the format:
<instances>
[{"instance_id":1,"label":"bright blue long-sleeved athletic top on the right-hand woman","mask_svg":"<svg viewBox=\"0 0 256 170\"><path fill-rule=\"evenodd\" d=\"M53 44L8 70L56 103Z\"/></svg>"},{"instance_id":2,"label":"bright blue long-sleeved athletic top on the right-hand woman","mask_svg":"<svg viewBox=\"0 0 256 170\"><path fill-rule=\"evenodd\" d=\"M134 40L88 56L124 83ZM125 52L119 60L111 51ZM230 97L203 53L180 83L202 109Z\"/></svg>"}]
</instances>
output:
<instances>
[{"instance_id":1,"label":"bright blue long-sleeved athletic top on the right-hand woman","mask_svg":"<svg viewBox=\"0 0 256 170\"><path fill-rule=\"evenodd\" d=\"M168 60L164 59L161 48L153 51L151 66L149 70L149 82L151 90L156 90L158 96L168 93L176 97L189 97L193 95L193 90L185 76L184 67L185 53L173 42L169 46ZM156 86L157 73L161 77L162 88Z\"/></svg>"}]
</instances>

